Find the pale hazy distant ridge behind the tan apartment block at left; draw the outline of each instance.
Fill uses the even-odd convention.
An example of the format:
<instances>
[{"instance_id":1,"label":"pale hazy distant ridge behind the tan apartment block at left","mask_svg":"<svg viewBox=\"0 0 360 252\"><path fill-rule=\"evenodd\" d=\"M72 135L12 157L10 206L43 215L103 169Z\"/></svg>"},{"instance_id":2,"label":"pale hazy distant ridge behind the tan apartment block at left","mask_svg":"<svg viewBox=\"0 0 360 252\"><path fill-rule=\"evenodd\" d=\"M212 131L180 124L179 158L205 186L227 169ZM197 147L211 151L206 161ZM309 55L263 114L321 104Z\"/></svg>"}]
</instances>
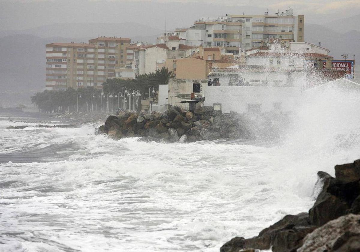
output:
<instances>
[{"instance_id":1,"label":"pale hazy distant ridge behind the tan apartment block at left","mask_svg":"<svg viewBox=\"0 0 360 252\"><path fill-rule=\"evenodd\" d=\"M153 27L139 24L139 23L69 23L69 24L49 24L36 28L26 30L9 30L0 31L0 37L27 34L39 36L42 38L48 37L70 37L70 38L85 38L85 37L99 37L99 36L116 36L129 37L134 41L149 40L149 43L155 42L156 35L161 34L162 31ZM87 42L87 41L82 41ZM144 41L145 42L145 41Z\"/></svg>"}]
</instances>

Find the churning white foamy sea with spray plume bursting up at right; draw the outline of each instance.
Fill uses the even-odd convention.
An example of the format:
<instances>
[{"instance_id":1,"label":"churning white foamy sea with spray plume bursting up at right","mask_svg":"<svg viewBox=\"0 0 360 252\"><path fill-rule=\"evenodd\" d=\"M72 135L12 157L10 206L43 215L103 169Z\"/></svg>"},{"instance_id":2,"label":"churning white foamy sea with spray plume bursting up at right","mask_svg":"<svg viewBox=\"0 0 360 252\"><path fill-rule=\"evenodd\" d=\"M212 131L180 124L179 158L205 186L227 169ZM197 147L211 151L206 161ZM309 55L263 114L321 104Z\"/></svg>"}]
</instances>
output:
<instances>
[{"instance_id":1,"label":"churning white foamy sea with spray plume bursting up at right","mask_svg":"<svg viewBox=\"0 0 360 252\"><path fill-rule=\"evenodd\" d=\"M276 142L114 141L0 118L0 251L219 251L308 211L316 172L359 158L360 101L305 98Z\"/></svg>"}]
</instances>

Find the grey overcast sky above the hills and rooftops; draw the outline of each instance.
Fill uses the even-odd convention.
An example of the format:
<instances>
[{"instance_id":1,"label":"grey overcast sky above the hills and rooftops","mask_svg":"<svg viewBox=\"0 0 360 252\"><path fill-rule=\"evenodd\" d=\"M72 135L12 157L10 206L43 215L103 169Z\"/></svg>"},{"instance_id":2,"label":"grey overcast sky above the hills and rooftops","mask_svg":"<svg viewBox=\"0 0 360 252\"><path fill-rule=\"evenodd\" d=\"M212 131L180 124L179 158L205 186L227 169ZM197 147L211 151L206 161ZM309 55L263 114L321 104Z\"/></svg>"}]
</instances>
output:
<instances>
[{"instance_id":1,"label":"grey overcast sky above the hills and rooftops","mask_svg":"<svg viewBox=\"0 0 360 252\"><path fill-rule=\"evenodd\" d=\"M327 23L360 13L360 0L0 0L0 30L22 30L52 23L136 22L167 30L199 17L269 14L288 7L305 22Z\"/></svg>"}]
</instances>

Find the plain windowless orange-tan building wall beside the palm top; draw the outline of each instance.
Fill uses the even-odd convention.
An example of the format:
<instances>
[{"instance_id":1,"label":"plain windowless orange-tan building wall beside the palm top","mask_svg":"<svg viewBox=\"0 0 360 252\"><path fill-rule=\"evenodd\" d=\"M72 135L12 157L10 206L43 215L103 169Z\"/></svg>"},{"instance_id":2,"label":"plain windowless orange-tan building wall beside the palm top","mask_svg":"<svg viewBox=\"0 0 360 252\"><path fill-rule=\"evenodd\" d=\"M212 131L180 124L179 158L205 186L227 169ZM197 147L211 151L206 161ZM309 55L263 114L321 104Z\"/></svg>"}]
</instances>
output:
<instances>
[{"instance_id":1,"label":"plain windowless orange-tan building wall beside the palm top","mask_svg":"<svg viewBox=\"0 0 360 252\"><path fill-rule=\"evenodd\" d=\"M176 60L177 79L206 79L206 60L184 58Z\"/></svg>"}]
</instances>

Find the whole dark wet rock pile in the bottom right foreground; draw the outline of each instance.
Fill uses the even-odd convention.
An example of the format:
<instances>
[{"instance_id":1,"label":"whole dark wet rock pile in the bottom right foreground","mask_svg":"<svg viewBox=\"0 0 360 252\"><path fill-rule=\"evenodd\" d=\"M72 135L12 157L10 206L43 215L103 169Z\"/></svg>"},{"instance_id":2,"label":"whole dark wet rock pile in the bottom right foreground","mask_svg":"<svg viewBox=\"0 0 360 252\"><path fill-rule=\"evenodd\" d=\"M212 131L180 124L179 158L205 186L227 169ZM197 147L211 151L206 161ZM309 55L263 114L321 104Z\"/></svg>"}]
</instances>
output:
<instances>
[{"instance_id":1,"label":"whole dark wet rock pile in the bottom right foreground","mask_svg":"<svg viewBox=\"0 0 360 252\"><path fill-rule=\"evenodd\" d=\"M257 237L235 237L220 251L360 251L360 159L335 166L335 178L323 171L318 178L322 190L309 213L286 215Z\"/></svg>"}]
</instances>

